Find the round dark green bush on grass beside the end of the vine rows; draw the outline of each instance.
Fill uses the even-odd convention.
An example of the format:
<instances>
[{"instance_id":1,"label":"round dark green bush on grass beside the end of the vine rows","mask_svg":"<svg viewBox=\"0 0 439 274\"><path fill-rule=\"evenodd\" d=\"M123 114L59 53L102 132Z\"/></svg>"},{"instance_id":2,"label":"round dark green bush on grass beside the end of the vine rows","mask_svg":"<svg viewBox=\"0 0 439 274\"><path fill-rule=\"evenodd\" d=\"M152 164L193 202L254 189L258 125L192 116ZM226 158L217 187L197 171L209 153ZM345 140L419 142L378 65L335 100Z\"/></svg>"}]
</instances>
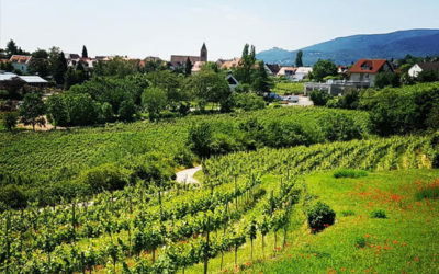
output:
<instances>
[{"instance_id":1,"label":"round dark green bush on grass beside the end of the vine rows","mask_svg":"<svg viewBox=\"0 0 439 274\"><path fill-rule=\"evenodd\" d=\"M319 231L326 227L334 225L336 213L329 205L317 202L307 212L308 226L313 231Z\"/></svg>"}]
</instances>

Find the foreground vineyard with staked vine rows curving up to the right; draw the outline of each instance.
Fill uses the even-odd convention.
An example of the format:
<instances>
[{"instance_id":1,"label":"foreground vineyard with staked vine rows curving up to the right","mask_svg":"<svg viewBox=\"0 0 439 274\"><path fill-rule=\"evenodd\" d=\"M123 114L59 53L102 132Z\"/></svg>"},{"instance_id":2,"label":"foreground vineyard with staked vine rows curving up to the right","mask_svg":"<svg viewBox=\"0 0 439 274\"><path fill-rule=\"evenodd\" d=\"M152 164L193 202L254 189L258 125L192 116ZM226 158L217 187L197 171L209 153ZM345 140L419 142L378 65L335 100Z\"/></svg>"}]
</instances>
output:
<instances>
[{"instance_id":1,"label":"foreground vineyard with staked vine rows curving up to the right","mask_svg":"<svg viewBox=\"0 0 439 274\"><path fill-rule=\"evenodd\" d=\"M306 174L341 167L429 169L434 146L430 137L413 136L261 148L203 161L199 189L165 189L159 182L146 187L139 182L97 194L92 202L74 199L44 209L34 203L2 213L0 270L219 272L245 263L239 256L244 247L251 247L252 260L254 249L261 247L268 258L288 246L292 221L316 198L306 186ZM210 265L213 260L215 269Z\"/></svg>"}]
</instances>

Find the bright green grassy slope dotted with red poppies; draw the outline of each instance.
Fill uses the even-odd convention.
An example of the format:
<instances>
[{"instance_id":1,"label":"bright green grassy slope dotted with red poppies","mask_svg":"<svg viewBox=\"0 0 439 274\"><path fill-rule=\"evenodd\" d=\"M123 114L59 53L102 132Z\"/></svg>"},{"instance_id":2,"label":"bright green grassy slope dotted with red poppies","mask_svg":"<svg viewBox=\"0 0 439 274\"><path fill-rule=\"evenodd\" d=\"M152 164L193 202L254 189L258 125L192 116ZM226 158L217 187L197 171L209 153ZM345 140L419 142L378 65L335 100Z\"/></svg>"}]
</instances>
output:
<instances>
[{"instance_id":1,"label":"bright green grassy slope dotted with red poppies","mask_svg":"<svg viewBox=\"0 0 439 274\"><path fill-rule=\"evenodd\" d=\"M376 172L360 179L335 179L331 172L308 175L308 192L336 210L336 225L311 235L304 215L296 209L288 248L273 258L270 233L266 255L271 259L262 262L258 235L255 261L251 263L250 244L246 243L238 251L238 265L251 273L439 273L439 201L414 197L419 184L437 178L438 170ZM387 219L370 218L370 212L378 208L385 210ZM345 217L345 210L354 215ZM363 249L356 247L360 238L367 242ZM282 233L278 242L281 246ZM211 260L212 272L219 272L219 258ZM225 256L224 265L229 272L234 270L233 252ZM201 264L189 270L200 271Z\"/></svg>"}]
</instances>

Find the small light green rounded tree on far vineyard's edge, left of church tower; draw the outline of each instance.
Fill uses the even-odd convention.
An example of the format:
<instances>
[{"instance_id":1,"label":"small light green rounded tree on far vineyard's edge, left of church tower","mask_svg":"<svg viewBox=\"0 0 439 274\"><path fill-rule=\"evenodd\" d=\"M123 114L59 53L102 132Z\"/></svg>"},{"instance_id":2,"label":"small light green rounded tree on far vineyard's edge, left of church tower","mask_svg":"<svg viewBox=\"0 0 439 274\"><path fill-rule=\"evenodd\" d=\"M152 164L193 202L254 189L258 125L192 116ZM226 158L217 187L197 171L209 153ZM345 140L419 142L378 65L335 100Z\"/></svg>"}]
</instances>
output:
<instances>
[{"instance_id":1,"label":"small light green rounded tree on far vineyard's edge, left of church tower","mask_svg":"<svg viewBox=\"0 0 439 274\"><path fill-rule=\"evenodd\" d=\"M165 110L167 96L164 89L148 88L142 94L142 104L149 114L150 121L156 121L160 116L160 112Z\"/></svg>"}]
</instances>

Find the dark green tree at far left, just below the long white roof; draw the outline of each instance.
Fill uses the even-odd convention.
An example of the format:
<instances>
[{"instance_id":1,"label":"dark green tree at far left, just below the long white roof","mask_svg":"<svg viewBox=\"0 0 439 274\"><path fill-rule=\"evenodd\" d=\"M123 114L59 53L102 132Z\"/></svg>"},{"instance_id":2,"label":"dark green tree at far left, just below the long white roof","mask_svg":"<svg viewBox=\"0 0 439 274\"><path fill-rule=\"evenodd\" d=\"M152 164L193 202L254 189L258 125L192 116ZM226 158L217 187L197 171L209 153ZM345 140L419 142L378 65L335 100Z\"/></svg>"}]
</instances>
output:
<instances>
[{"instance_id":1,"label":"dark green tree at far left, just below the long white roof","mask_svg":"<svg viewBox=\"0 0 439 274\"><path fill-rule=\"evenodd\" d=\"M41 92L27 93L24 95L23 104L20 107L21 122L24 125L32 125L35 130L35 125L44 126L46 119L42 117L45 113L43 94Z\"/></svg>"}]
</instances>

